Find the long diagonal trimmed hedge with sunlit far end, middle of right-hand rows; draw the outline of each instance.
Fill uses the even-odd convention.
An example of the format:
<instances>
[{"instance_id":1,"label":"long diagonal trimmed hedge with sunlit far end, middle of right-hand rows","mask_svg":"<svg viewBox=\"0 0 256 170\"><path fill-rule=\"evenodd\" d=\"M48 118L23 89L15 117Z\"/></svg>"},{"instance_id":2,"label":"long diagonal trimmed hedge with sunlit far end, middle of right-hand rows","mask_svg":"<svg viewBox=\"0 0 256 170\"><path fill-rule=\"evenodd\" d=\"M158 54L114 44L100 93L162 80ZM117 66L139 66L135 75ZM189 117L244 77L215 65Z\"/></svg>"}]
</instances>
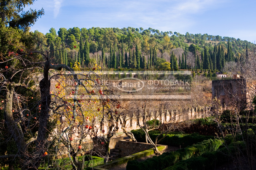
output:
<instances>
[{"instance_id":1,"label":"long diagonal trimmed hedge with sunlit far end, middle of right-hand rows","mask_svg":"<svg viewBox=\"0 0 256 170\"><path fill-rule=\"evenodd\" d=\"M179 149L175 152L163 153L160 156L153 156L153 158L145 161L128 161L126 170L162 170L166 167L172 166L178 161L215 151L222 145L222 143L223 142L218 139L208 139L192 146Z\"/></svg>"}]
</instances>

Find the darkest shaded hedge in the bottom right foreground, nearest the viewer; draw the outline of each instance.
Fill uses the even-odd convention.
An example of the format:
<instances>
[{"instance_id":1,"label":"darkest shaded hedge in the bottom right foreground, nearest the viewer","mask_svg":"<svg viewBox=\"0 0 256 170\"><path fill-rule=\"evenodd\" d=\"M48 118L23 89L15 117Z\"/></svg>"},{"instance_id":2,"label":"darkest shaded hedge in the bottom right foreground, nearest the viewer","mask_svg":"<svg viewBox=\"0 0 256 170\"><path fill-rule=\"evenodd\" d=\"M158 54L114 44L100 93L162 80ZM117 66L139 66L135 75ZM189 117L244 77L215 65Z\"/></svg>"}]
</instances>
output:
<instances>
[{"instance_id":1,"label":"darkest shaded hedge in the bottom right foreground, nearest the viewer","mask_svg":"<svg viewBox=\"0 0 256 170\"><path fill-rule=\"evenodd\" d=\"M235 155L238 151L236 147L244 151L245 144L243 142L232 143L228 146L230 152L226 147L222 147L214 152L204 153L195 158L179 161L177 164L164 170L212 170L215 169L215 165L221 165L229 161L231 156Z\"/></svg>"}]
</instances>

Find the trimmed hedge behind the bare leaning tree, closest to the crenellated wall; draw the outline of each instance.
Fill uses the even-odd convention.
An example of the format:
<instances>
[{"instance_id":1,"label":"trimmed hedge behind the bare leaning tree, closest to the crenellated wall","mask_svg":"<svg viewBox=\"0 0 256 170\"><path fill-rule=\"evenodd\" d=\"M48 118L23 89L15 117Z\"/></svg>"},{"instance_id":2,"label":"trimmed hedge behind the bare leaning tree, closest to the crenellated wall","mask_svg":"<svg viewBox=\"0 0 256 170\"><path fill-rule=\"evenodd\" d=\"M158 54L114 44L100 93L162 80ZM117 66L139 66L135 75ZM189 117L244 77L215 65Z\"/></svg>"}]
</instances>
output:
<instances>
[{"instance_id":1,"label":"trimmed hedge behind the bare leaning tree, closest to the crenellated wall","mask_svg":"<svg viewBox=\"0 0 256 170\"><path fill-rule=\"evenodd\" d=\"M134 137L137 140L137 142L146 141L145 132L142 129L132 130L131 132L134 134ZM149 136L153 141L156 139L156 137L159 134L160 132L157 130L149 131ZM159 142L159 144L172 145L177 147L180 147L180 146L187 147L192 144L196 144L198 142L202 142L208 139L214 139L214 136L204 136L204 135L199 135L198 133L183 134L180 132L172 132L167 134L166 137Z\"/></svg>"}]
</instances>

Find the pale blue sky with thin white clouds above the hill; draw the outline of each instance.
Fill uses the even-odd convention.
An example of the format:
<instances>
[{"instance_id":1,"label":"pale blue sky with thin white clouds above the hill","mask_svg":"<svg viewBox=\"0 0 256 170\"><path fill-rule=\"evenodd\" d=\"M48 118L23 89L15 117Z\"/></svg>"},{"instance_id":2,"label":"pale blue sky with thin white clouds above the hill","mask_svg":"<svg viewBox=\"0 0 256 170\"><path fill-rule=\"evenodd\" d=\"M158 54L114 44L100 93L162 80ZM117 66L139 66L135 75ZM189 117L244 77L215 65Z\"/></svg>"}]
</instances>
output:
<instances>
[{"instance_id":1,"label":"pale blue sky with thin white clouds above the hill","mask_svg":"<svg viewBox=\"0 0 256 170\"><path fill-rule=\"evenodd\" d=\"M154 28L256 42L256 0L37 0L31 31L50 28Z\"/></svg>"}]
</instances>

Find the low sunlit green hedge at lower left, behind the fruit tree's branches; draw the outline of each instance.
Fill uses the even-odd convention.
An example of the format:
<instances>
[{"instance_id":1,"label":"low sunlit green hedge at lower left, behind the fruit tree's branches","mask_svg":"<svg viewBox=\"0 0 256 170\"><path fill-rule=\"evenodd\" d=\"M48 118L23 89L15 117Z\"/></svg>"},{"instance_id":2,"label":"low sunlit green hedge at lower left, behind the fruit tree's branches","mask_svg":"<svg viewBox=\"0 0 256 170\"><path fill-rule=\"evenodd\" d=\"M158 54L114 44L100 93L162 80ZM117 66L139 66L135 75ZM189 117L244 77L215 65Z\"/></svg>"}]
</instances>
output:
<instances>
[{"instance_id":1,"label":"low sunlit green hedge at lower left, behind the fruit tree's branches","mask_svg":"<svg viewBox=\"0 0 256 170\"><path fill-rule=\"evenodd\" d=\"M84 164L84 167L92 167L98 164L103 164L104 163L104 158L100 158L97 156L90 156L90 155L85 155L85 156L78 156L76 159L79 161L79 163ZM72 165L70 165L70 159L69 158L63 158L63 159L57 159L54 161L54 164L57 167L64 167L66 170L72 170ZM41 167L38 168L40 170L55 170L58 168L47 168L47 167Z\"/></svg>"}]
</instances>

